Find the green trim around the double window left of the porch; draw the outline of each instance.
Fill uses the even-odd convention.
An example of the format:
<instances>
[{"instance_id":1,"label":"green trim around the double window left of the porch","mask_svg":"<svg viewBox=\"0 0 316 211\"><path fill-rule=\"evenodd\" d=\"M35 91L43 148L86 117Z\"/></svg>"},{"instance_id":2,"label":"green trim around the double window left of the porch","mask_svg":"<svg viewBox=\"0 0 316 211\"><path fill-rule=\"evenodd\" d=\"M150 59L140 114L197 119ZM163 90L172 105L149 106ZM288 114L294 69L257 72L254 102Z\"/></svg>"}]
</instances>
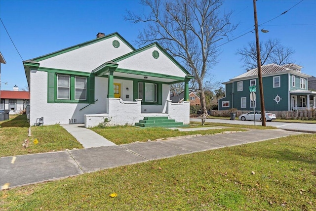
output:
<instances>
[{"instance_id":1,"label":"green trim around the double window left of the porch","mask_svg":"<svg viewBox=\"0 0 316 211\"><path fill-rule=\"evenodd\" d=\"M70 99L58 99L57 98L57 75L66 75L70 76ZM74 73L65 73L58 71L49 71L47 72L47 103L94 103L94 75L90 74L74 74ZM76 100L76 87L75 87L75 78L76 77L85 77L86 78L86 99L85 100Z\"/></svg>"}]
</instances>

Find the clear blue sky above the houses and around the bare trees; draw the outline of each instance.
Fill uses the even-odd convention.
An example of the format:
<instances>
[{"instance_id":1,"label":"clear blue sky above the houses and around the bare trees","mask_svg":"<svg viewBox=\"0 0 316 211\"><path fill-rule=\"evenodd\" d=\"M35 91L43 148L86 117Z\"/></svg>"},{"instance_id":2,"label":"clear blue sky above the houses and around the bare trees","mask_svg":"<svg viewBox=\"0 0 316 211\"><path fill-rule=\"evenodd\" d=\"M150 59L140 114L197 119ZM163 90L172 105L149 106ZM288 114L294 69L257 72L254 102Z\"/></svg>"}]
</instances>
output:
<instances>
[{"instance_id":1,"label":"clear blue sky above the houses and around the bare trees","mask_svg":"<svg viewBox=\"0 0 316 211\"><path fill-rule=\"evenodd\" d=\"M258 0L258 24L265 23L301 0ZM138 47L135 40L145 25L124 21L126 10L141 13L138 0L0 0L0 18L23 60L32 59L96 38L98 32L118 32ZM254 27L252 0L226 0L222 11L233 11L232 23L239 24L231 39ZM316 75L316 0L303 0L285 14L262 25L260 41L279 39L295 50L293 60L303 66L303 73ZM244 73L236 50L255 34L248 33L220 47L219 63L211 70L216 80L225 82ZM225 43L227 41L221 41ZM0 23L1 89L12 90L16 84L25 88L27 81L22 59ZM7 84L4 84L7 83Z\"/></svg>"}]
</instances>

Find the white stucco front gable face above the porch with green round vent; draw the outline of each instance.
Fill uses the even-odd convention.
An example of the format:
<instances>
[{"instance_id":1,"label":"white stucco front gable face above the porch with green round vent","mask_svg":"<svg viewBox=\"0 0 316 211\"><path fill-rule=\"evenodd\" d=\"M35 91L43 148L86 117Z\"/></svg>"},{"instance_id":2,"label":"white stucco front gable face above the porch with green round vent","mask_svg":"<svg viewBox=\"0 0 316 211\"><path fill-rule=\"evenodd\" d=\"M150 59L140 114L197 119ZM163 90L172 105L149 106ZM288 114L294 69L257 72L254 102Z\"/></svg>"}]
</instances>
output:
<instances>
[{"instance_id":1,"label":"white stucco front gable face above the porch with green round vent","mask_svg":"<svg viewBox=\"0 0 316 211\"><path fill-rule=\"evenodd\" d=\"M153 51L159 52L159 57L153 57ZM185 77L186 74L175 65L158 47L152 47L118 62L118 68L159 73L170 76Z\"/></svg>"}]
</instances>

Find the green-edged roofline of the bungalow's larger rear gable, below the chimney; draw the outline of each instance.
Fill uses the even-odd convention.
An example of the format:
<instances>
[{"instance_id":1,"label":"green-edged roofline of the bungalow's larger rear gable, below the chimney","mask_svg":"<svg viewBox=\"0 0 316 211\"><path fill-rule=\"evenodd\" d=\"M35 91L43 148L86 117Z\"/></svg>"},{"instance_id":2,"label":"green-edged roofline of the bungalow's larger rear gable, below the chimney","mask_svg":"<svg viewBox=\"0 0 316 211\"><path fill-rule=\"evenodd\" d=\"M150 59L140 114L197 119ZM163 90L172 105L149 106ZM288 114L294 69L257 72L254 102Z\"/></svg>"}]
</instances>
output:
<instances>
[{"instance_id":1,"label":"green-edged roofline of the bungalow's larger rear gable, below the chimney","mask_svg":"<svg viewBox=\"0 0 316 211\"><path fill-rule=\"evenodd\" d=\"M48 59L48 58L54 57L56 55L59 55L59 54L62 54L62 53L66 53L66 52L78 49L80 47L84 47L84 46L87 46L87 45L90 45L90 44L93 44L93 43L96 43L96 42L100 42L100 41L103 41L103 40L106 40L106 39L109 39L109 38L112 38L112 37L115 37L115 36L117 36L120 40L122 40L132 50L135 50L135 48L129 42L127 42L122 36L120 36L117 32L115 32L115 33L106 35L106 36L101 37L101 38L96 38L96 39L91 40L91 41L83 42L83 43L80 43L80 44L77 44L77 45L74 45L74 46L71 46L71 47L67 47L67 48L64 48L64 49L52 52L52 53L48 53L48 54L43 55L43 56L39 56L39 57L36 57L36 58L33 58L33 59L29 59L27 61L33 60L33 61L39 62L39 61L42 61L44 59Z\"/></svg>"}]
</instances>

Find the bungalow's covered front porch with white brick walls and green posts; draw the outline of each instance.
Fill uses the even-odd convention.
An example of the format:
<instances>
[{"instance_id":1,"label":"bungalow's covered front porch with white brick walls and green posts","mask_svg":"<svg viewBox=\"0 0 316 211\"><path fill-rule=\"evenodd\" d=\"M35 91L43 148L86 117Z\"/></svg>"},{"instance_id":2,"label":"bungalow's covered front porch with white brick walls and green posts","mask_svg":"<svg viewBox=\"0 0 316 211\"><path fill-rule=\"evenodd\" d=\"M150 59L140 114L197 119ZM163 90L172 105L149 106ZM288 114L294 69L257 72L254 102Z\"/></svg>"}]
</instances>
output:
<instances>
[{"instance_id":1,"label":"bungalow's covered front porch with white brick walls and green posts","mask_svg":"<svg viewBox=\"0 0 316 211\"><path fill-rule=\"evenodd\" d=\"M107 120L108 126L134 125L144 117L167 117L189 124L190 100L189 74L173 76L153 72L118 68L115 62L107 62L92 71L96 78L95 89L103 89L106 95L106 112L85 114L84 126L95 127ZM102 83L97 83L98 78ZM170 84L184 83L184 102L171 103Z\"/></svg>"}]
</instances>

